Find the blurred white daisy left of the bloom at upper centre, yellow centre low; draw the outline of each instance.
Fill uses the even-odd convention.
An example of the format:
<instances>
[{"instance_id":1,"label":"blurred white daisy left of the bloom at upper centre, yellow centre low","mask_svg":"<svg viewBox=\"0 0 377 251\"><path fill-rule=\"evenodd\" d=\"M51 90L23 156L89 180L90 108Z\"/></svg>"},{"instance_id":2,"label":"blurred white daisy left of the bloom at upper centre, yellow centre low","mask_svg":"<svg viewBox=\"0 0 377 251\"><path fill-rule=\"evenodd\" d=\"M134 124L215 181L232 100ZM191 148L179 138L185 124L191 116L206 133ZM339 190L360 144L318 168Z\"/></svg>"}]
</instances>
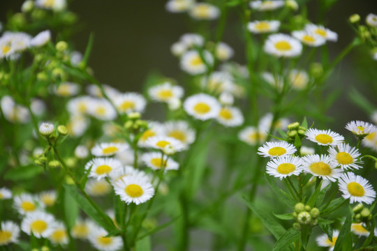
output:
<instances>
[{"instance_id":1,"label":"blurred white daisy left of the bloom at upper centre, yellow centre low","mask_svg":"<svg viewBox=\"0 0 377 251\"><path fill-rule=\"evenodd\" d=\"M147 101L139 93L124 93L114 100L114 104L121 114L129 114L131 112L144 112Z\"/></svg>"}]
</instances>

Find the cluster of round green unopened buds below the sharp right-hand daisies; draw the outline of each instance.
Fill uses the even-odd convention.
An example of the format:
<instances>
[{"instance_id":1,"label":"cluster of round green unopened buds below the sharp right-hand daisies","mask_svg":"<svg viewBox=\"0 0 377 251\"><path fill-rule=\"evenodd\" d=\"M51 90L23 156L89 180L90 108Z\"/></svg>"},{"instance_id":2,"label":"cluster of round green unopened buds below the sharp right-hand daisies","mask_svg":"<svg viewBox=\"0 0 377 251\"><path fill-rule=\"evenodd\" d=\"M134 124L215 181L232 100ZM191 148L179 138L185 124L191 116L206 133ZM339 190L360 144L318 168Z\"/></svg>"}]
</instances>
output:
<instances>
[{"instance_id":1,"label":"cluster of round green unopened buds below the sharp right-hand daisies","mask_svg":"<svg viewBox=\"0 0 377 251\"><path fill-rule=\"evenodd\" d=\"M318 208L311 208L311 206L297 203L295 205L295 212L293 212L293 217L296 220L293 223L293 227L301 229L302 225L315 226L318 223L317 219L319 215L320 211Z\"/></svg>"}]
</instances>

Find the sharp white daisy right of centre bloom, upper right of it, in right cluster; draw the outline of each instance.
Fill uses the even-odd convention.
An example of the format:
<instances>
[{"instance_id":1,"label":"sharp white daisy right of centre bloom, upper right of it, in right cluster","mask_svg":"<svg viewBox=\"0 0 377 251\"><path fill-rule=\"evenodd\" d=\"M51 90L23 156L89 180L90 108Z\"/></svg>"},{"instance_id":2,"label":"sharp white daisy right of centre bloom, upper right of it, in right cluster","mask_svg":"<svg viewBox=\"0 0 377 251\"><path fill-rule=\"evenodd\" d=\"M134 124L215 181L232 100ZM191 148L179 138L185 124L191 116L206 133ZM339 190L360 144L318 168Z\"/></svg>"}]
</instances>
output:
<instances>
[{"instance_id":1,"label":"sharp white daisy right of centre bloom, upper right of it, in right cluster","mask_svg":"<svg viewBox=\"0 0 377 251\"><path fill-rule=\"evenodd\" d=\"M329 155L336 165L345 169L360 169L362 161L358 160L360 152L355 147L350 147L348 144L339 144L337 147L329 148Z\"/></svg>"}]
</instances>

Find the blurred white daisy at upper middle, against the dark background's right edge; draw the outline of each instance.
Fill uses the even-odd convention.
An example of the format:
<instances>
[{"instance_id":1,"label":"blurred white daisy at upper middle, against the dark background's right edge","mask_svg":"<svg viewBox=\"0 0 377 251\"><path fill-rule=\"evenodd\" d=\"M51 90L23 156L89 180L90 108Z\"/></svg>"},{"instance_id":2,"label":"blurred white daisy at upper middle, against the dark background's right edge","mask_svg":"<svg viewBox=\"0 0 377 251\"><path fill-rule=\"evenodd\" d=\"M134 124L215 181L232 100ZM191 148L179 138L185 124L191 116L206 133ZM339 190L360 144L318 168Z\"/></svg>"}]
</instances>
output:
<instances>
[{"instance_id":1,"label":"blurred white daisy at upper middle, against the dark background's right edge","mask_svg":"<svg viewBox=\"0 0 377 251\"><path fill-rule=\"evenodd\" d=\"M211 53L203 50L202 56L207 64L212 65L214 59L212 58ZM205 64L205 62L203 61L199 52L197 52L196 50L189 50L182 55L180 66L181 69L186 73L190 75L198 75L207 71L207 65Z\"/></svg>"}]
</instances>

